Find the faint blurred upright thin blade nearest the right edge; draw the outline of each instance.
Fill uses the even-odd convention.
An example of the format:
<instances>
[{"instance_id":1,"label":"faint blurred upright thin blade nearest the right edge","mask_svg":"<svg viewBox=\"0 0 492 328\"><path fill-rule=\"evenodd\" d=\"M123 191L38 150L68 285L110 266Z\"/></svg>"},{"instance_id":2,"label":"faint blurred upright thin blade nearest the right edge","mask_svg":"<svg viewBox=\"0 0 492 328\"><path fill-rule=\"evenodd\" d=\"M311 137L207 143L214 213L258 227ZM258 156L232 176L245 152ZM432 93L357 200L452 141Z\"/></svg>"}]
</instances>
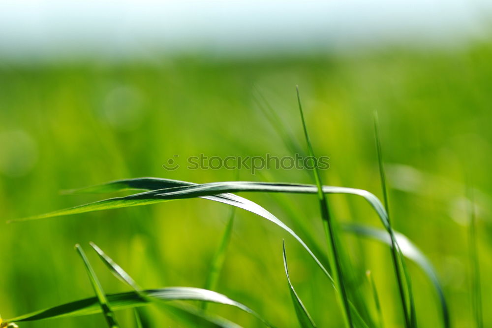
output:
<instances>
[{"instance_id":1,"label":"faint blurred upright thin blade nearest the right edge","mask_svg":"<svg viewBox=\"0 0 492 328\"><path fill-rule=\"evenodd\" d=\"M482 315L482 292L480 283L480 265L478 262L478 249L477 249L477 232L476 232L476 214L475 214L475 201L473 190L467 188L467 194L469 199L469 254L471 264L471 296L472 296L472 310L475 317L475 325L477 328L483 328L483 315Z\"/></svg>"}]
</instances>

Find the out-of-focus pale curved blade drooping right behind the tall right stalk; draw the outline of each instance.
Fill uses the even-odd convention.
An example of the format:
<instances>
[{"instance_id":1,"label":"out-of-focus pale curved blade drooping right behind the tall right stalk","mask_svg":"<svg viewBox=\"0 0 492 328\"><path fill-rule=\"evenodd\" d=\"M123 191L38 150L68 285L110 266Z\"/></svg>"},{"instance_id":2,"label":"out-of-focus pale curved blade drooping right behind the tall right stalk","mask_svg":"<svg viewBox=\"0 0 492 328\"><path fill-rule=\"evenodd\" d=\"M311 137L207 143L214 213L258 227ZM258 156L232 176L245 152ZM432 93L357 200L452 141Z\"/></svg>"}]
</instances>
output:
<instances>
[{"instance_id":1,"label":"out-of-focus pale curved blade drooping right behind the tall right stalk","mask_svg":"<svg viewBox=\"0 0 492 328\"><path fill-rule=\"evenodd\" d=\"M343 225L343 229L360 236L379 240L387 244L389 247L393 247L391 238L385 230L363 226L363 225L357 225L357 224ZM417 246L415 246L410 241L410 239L408 239L404 234L400 232L395 232L395 237L400 247L401 254L406 258L412 260L413 262L417 263L417 265L420 266L420 268L425 272L425 274L431 280L431 283L434 286L434 289L439 298L443 326L449 328L450 319L449 319L448 305L446 303L446 299L444 298L444 292L441 283L439 282L439 278L437 277L437 274L435 272L435 269L431 261L429 261L429 259L424 255L424 253L422 253L422 251Z\"/></svg>"}]
</instances>

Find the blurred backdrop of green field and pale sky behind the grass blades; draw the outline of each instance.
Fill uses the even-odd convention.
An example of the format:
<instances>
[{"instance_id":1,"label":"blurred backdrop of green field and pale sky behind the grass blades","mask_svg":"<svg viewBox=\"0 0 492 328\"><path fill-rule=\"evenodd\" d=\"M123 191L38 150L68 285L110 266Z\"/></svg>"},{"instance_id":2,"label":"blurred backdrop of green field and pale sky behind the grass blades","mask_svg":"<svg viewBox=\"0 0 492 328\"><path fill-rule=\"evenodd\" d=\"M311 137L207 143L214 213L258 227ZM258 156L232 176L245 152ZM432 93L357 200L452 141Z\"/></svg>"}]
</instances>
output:
<instances>
[{"instance_id":1,"label":"blurred backdrop of green field and pale sky behind the grass blades","mask_svg":"<svg viewBox=\"0 0 492 328\"><path fill-rule=\"evenodd\" d=\"M373 137L379 113L396 230L431 260L453 327L473 327L466 181L475 189L483 306L492 304L492 41L486 1L128 1L0 4L0 313L13 317L93 295L73 250L82 244L106 292L127 288L90 252L98 244L143 287L203 287L226 205L187 199L41 221L20 218L101 199L63 189L141 176L206 183L227 169L188 170L198 156L292 155L265 100L304 145L299 85L326 184L381 197ZM162 164L174 155L182 166ZM181 163L180 163L181 161ZM305 171L239 171L240 180L312 183ZM115 195L116 196L116 195ZM242 194L325 248L315 196ZM335 218L374 227L363 200L330 196ZM288 206L286 206L288 205ZM340 327L333 288L293 238L236 211L217 291L277 327L296 327L281 257L319 327ZM386 327L402 327L388 249L345 236L370 269ZM420 327L438 327L431 283L409 262ZM362 285L369 293L369 286ZM368 294L370 295L370 294ZM210 310L244 327L255 318ZM184 327L148 307L152 327ZM134 327L133 313L117 313ZM484 312L485 326L492 314ZM20 327L104 327L103 317Z\"/></svg>"}]
</instances>

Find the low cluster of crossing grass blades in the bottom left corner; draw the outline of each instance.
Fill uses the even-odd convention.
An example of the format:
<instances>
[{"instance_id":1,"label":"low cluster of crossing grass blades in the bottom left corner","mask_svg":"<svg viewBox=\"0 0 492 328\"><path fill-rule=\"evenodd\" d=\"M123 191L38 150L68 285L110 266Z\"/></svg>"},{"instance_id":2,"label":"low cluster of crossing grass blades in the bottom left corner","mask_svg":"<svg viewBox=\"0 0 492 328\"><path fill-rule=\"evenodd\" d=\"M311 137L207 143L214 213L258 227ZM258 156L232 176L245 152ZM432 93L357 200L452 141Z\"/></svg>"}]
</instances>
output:
<instances>
[{"instance_id":1,"label":"low cluster of crossing grass blades in the bottom left corner","mask_svg":"<svg viewBox=\"0 0 492 328\"><path fill-rule=\"evenodd\" d=\"M70 303L65 303L48 309L28 313L22 316L18 316L12 319L5 320L5 324L14 325L13 322L23 321L36 321L44 319L62 318L62 317L76 317L83 315L90 315L96 313L103 313L106 319L107 325L110 328L118 328L116 317L113 311L122 310L126 308L136 308L139 306L147 305L150 303L157 304L163 309L167 310L173 315L178 316L184 322L189 323L194 327L207 327L207 328L237 328L240 327L224 318L205 314L200 309L193 306L184 306L167 303L172 300L197 300L202 302L214 302L225 305L231 305L237 307L255 317L265 324L266 327L272 327L267 321L265 321L260 315L251 310L246 305L234 301L229 297L216 293L214 291L192 288L192 287L167 287L160 289L144 290L141 289L136 282L128 275L123 268L115 263L109 256L107 256L97 245L91 243L92 248L97 252L99 258L107 265L110 271L118 279L123 281L127 286L132 288L132 291L118 294L104 294L102 287L92 269L92 266L87 259L84 251L79 245L75 248L81 256L89 278L92 283L92 287L96 294L96 297L81 299ZM140 316L136 315L137 323L140 322ZM15 327L15 326L5 326Z\"/></svg>"}]
</instances>

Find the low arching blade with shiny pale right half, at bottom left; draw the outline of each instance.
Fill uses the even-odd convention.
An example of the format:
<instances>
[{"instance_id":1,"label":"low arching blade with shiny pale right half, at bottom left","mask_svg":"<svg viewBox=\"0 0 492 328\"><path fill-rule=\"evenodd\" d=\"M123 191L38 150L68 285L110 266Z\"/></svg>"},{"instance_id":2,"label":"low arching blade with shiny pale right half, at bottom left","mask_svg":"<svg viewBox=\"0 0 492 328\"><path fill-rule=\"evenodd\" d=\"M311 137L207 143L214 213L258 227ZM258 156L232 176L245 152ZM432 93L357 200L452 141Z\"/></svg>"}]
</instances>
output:
<instances>
[{"instance_id":1,"label":"low arching blade with shiny pale right half, at bottom left","mask_svg":"<svg viewBox=\"0 0 492 328\"><path fill-rule=\"evenodd\" d=\"M231 305L237 307L253 316L258 317L256 312L248 308L246 305L234 301L229 297L213 292L194 287L167 287L160 289L148 289L143 290L148 297L157 298L164 301L170 300L197 300L220 303L225 305ZM143 306L149 304L149 300L139 295L137 292L126 292L118 294L107 294L106 298L111 308L115 311L134 308L137 306ZM35 321L42 319L62 318L62 317L76 317L89 314L101 313L102 309L99 305L97 297L90 297L80 299L77 301L65 303L48 309L28 313L12 319L8 322L16 321ZM261 318L258 317L261 320Z\"/></svg>"}]
</instances>

